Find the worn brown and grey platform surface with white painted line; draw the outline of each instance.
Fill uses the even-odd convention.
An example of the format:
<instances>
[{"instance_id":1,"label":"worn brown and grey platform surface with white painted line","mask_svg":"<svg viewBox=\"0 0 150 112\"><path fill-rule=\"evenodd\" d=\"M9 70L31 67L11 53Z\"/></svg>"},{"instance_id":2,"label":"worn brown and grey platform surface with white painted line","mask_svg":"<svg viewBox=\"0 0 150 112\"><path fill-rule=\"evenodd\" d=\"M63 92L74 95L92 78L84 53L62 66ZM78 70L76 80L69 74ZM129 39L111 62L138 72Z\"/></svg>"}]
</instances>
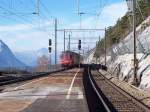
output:
<instances>
[{"instance_id":1,"label":"worn brown and grey platform surface with white painted line","mask_svg":"<svg viewBox=\"0 0 150 112\"><path fill-rule=\"evenodd\" d=\"M82 70L27 81L0 92L0 112L88 112Z\"/></svg>"}]
</instances>

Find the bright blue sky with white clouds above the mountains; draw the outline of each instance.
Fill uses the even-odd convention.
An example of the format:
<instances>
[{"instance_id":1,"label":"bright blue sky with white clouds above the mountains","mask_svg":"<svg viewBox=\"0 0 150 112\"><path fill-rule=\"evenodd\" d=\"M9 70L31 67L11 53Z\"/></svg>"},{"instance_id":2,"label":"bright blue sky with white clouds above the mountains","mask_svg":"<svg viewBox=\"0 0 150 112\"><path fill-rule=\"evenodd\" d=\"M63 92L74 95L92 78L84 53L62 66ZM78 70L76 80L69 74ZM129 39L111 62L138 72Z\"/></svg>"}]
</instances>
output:
<instances>
[{"instance_id":1,"label":"bright blue sky with white clouds above the mountains","mask_svg":"<svg viewBox=\"0 0 150 112\"><path fill-rule=\"evenodd\" d=\"M55 18L58 29L104 29L127 12L125 0L79 0L79 5L78 0L39 0L39 7L37 1L0 0L0 39L15 52L47 48L49 38L54 50ZM78 12L84 14L80 17ZM104 31L67 32L66 43L69 35L71 49L77 48L78 39L85 49L91 49ZM58 32L58 50L63 50L63 32Z\"/></svg>"}]
</instances>

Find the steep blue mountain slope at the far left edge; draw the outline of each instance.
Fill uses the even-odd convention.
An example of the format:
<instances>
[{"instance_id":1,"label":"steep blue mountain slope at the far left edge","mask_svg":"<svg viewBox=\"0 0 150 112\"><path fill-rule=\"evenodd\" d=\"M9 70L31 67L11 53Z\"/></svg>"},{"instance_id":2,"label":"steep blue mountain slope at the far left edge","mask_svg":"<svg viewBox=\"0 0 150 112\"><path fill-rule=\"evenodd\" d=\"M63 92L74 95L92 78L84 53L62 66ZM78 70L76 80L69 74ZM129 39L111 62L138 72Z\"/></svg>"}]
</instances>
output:
<instances>
[{"instance_id":1,"label":"steep blue mountain slope at the far left edge","mask_svg":"<svg viewBox=\"0 0 150 112\"><path fill-rule=\"evenodd\" d=\"M9 47L0 40L0 69L3 68L22 68L25 64L19 61Z\"/></svg>"}]
</instances>

